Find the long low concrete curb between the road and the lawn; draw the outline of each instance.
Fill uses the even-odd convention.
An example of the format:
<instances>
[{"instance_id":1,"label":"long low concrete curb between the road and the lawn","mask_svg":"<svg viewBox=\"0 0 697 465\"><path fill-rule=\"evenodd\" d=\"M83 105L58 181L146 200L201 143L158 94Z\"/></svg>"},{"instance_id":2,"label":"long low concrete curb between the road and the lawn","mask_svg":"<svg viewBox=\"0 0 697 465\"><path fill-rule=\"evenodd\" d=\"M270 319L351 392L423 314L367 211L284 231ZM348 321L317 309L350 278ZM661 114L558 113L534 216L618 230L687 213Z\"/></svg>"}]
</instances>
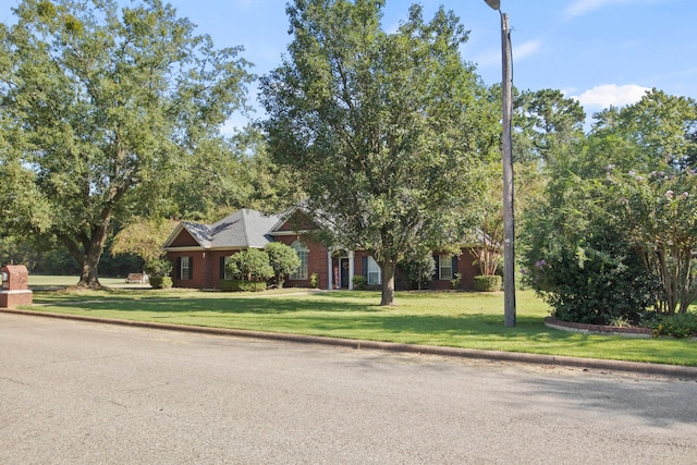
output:
<instances>
[{"instance_id":1,"label":"long low concrete curb between the road and the lawn","mask_svg":"<svg viewBox=\"0 0 697 465\"><path fill-rule=\"evenodd\" d=\"M669 378L697 380L697 367L684 367L684 366L677 366L677 365L606 360L600 358L579 358L579 357L567 357L567 356L560 356L560 355L527 354L527 353L521 353L521 352L480 351L480 350L474 350L474 348L402 344L402 343L379 342L379 341L362 341L362 340L353 340L353 339L326 338L326 336L317 336L317 335L283 334L283 333L248 331L248 330L240 330L240 329L158 323L158 322L150 322L150 321L129 321L129 320L118 320L112 318L87 317L82 315L19 310L19 309L12 309L12 308L2 308L0 309L0 313L26 315L26 316L34 316L34 317L59 318L59 319L87 321L87 322L95 322L95 323L118 325L118 326L126 326L126 327L135 327L135 328L148 328L148 329L158 329L158 330L168 330L168 331L183 331L183 332L194 332L194 333L203 333L203 334L228 335L228 336L236 336L236 338L252 338L252 339L262 339L262 340L271 340L271 341L295 342L295 343L303 343L303 344L334 345L334 346L348 347L348 348L369 348L369 350L387 351L387 352L442 355L442 356L449 356L449 357L463 357L463 358L493 360L493 362L498 360L498 362L524 363L524 364L531 364L531 365L565 366L565 367L585 368L585 369L592 369L592 370L623 371L623 372L632 372L632 374L640 374L640 375L651 375L651 376L661 376L661 377L669 377Z\"/></svg>"}]
</instances>

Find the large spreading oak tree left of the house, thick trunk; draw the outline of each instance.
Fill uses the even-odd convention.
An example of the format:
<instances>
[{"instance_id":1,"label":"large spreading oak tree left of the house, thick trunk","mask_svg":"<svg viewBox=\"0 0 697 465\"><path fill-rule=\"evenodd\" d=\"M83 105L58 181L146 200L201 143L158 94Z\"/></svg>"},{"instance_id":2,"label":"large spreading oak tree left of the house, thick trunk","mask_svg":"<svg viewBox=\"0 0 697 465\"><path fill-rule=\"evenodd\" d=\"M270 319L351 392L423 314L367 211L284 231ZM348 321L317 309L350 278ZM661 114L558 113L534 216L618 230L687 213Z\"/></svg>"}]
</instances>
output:
<instances>
[{"instance_id":1,"label":"large spreading oak tree left of the house, thick trunk","mask_svg":"<svg viewBox=\"0 0 697 465\"><path fill-rule=\"evenodd\" d=\"M113 220L156 211L182 158L216 145L244 107L248 63L159 0L24 0L13 12L0 25L0 158L25 170L49 216L14 227L59 240L80 284L98 286Z\"/></svg>"}]
</instances>

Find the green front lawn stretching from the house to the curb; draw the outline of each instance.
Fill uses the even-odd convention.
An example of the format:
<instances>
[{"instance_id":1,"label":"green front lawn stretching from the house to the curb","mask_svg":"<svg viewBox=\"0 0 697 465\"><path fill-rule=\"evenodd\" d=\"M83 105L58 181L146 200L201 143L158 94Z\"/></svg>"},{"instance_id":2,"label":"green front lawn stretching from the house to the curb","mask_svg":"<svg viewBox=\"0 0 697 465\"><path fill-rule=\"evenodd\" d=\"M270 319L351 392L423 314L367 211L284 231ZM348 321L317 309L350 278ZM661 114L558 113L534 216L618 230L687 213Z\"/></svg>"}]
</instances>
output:
<instances>
[{"instance_id":1,"label":"green front lawn stretching from the house to the curb","mask_svg":"<svg viewBox=\"0 0 697 465\"><path fill-rule=\"evenodd\" d=\"M191 326L697 366L695 341L584 335L549 329L543 323L548 307L531 291L517 292L515 328L503 325L501 293L398 293L396 306L380 307L376 292L298 291L35 291L32 308Z\"/></svg>"}]
</instances>

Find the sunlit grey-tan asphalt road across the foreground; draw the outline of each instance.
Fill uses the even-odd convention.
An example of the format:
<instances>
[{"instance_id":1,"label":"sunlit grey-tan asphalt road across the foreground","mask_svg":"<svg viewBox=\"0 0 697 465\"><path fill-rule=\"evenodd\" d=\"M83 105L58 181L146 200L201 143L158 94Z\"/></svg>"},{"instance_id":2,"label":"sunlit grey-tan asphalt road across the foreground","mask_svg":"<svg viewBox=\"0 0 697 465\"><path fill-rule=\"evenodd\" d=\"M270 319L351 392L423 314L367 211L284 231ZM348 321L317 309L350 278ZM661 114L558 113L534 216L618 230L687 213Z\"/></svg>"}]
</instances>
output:
<instances>
[{"instance_id":1,"label":"sunlit grey-tan asphalt road across the foreground","mask_svg":"<svg viewBox=\"0 0 697 465\"><path fill-rule=\"evenodd\" d=\"M688 464L697 382L0 314L2 464Z\"/></svg>"}]
</instances>

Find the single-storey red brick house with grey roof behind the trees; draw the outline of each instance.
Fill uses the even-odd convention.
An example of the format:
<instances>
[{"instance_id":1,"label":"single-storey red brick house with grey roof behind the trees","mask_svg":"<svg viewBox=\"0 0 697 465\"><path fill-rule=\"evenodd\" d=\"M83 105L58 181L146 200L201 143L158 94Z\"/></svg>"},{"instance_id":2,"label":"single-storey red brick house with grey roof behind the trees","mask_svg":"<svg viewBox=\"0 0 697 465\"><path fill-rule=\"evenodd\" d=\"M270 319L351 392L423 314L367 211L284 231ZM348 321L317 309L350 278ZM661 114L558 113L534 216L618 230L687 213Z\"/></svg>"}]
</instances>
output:
<instances>
[{"instance_id":1,"label":"single-storey red brick house with grey roof behind the trees","mask_svg":"<svg viewBox=\"0 0 697 465\"><path fill-rule=\"evenodd\" d=\"M213 224L182 221L163 245L173 264L175 287L219 289L225 278L225 261L247 248L264 248L270 242L282 242L294 248L301 268L289 277L285 286L307 287L315 274L320 289L353 289L353 277L363 274L368 284L381 283L380 268L365 250L327 247L313 237L315 225L298 210L282 215L265 215L242 209ZM462 277L461 289L474 287L476 267L473 245L464 245L462 254L435 254L436 272L431 289L451 289L455 273ZM408 283L399 276L396 289Z\"/></svg>"}]
</instances>

